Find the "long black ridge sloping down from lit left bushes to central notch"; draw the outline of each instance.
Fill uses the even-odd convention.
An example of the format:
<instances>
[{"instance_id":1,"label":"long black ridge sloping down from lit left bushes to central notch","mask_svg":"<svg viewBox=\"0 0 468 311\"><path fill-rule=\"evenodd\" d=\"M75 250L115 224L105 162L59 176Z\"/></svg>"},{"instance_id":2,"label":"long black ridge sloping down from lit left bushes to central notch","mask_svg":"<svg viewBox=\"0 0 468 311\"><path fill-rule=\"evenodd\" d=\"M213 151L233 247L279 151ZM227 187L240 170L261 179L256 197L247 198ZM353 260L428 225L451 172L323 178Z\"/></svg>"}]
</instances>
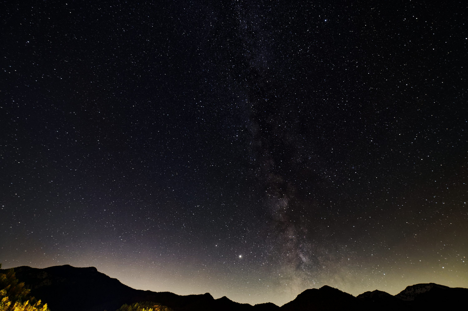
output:
<instances>
[{"instance_id":1,"label":"long black ridge sloping down from lit left bushes to central notch","mask_svg":"<svg viewBox=\"0 0 468 311\"><path fill-rule=\"evenodd\" d=\"M227 297L214 299L209 293L180 296L170 292L132 289L96 268L70 265L49 268L15 268L16 277L42 299L51 311L115 311L123 304L152 301L175 311L196 310L277 310L275 304L239 304Z\"/></svg>"}]
</instances>

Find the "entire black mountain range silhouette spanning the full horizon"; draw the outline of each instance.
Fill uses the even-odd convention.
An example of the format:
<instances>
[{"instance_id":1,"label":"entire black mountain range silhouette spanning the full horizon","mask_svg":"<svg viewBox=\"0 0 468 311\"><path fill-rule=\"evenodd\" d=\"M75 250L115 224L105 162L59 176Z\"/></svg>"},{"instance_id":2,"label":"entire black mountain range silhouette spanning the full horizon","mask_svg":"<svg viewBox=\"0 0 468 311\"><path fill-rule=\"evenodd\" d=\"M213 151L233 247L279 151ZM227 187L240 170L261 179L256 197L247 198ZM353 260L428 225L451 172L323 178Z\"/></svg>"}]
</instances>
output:
<instances>
[{"instance_id":1,"label":"entire black mountain range silhouette spanning the full horizon","mask_svg":"<svg viewBox=\"0 0 468 311\"><path fill-rule=\"evenodd\" d=\"M214 299L209 293L180 296L132 289L94 267L65 265L38 269L22 266L15 268L15 273L20 282L31 289L31 295L42 299L51 311L115 311L123 304L142 301L163 304L174 311L444 310L462 307L468 298L468 289L435 283L408 286L395 296L374 290L358 297L323 286L307 289L279 307L272 303L239 304L227 297Z\"/></svg>"}]
</instances>

